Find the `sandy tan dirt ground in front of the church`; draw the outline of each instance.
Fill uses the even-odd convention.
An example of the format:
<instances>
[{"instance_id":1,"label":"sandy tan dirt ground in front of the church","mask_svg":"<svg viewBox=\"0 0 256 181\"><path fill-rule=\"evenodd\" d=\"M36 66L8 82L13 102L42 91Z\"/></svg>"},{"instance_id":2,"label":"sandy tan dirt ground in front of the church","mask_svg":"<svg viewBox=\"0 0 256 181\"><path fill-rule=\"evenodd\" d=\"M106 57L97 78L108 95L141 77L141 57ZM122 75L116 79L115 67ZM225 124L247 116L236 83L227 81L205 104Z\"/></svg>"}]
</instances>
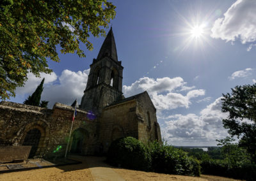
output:
<instances>
[{"instance_id":1,"label":"sandy tan dirt ground in front of the church","mask_svg":"<svg viewBox=\"0 0 256 181\"><path fill-rule=\"evenodd\" d=\"M77 158L76 158L77 159ZM53 168L41 168L38 170L29 170L29 171L17 171L13 173L2 173L0 174L0 180L96 180L95 175L92 175L92 168L88 165L93 165L93 170L97 169L97 164L102 166L102 163L86 163L86 157L81 157L79 159L82 161L82 164L72 164L67 166L58 166ZM88 160L88 159L87 159ZM99 162L99 159L90 159L90 162L94 161ZM105 164L106 165L106 164ZM91 166L92 167L92 166ZM231 178L223 178L223 177L216 177L210 175L202 175L201 177L188 177L188 176L181 176L181 175L168 175L168 174L161 174L161 173L152 173L152 172L145 172L145 171L135 171L135 170L126 170L122 168L113 168L108 166L108 169L111 171L115 171L116 175L124 178L124 180L198 180L198 181L231 181L234 179ZM100 174L100 173L99 173ZM99 177L98 177L99 178ZM97 179L100 180L100 179ZM101 179L106 180L106 179ZM111 180L111 178L109 178Z\"/></svg>"}]
</instances>

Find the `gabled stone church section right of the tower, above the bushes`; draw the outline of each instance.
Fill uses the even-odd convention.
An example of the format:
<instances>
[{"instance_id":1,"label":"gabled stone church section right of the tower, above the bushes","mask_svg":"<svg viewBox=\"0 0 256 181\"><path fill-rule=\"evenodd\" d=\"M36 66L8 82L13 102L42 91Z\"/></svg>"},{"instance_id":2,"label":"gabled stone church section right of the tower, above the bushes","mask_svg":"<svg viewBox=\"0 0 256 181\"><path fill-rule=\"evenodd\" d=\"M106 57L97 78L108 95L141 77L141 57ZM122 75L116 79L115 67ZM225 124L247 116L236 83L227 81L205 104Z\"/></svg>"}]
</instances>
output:
<instances>
[{"instance_id":1,"label":"gabled stone church section right of the tower, above the bushes","mask_svg":"<svg viewBox=\"0 0 256 181\"><path fill-rule=\"evenodd\" d=\"M107 106L103 109L99 122L99 141L104 146L104 152L116 138L126 136L137 138L145 144L155 140L161 141L156 108L147 92Z\"/></svg>"}]
</instances>

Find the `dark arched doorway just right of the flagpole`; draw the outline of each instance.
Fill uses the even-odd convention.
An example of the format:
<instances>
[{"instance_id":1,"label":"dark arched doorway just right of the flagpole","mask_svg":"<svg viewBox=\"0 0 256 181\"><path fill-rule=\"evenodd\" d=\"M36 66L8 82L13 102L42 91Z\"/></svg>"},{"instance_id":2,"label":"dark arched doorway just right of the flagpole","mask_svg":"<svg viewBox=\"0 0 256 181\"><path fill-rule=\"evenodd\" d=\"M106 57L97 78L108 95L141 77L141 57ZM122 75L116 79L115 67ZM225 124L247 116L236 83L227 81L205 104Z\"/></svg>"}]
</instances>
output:
<instances>
[{"instance_id":1,"label":"dark arched doorway just right of the flagpole","mask_svg":"<svg viewBox=\"0 0 256 181\"><path fill-rule=\"evenodd\" d=\"M88 138L88 133L83 128L76 129L71 136L71 147L70 152L72 154L84 154L84 147L86 146L86 139Z\"/></svg>"}]
</instances>

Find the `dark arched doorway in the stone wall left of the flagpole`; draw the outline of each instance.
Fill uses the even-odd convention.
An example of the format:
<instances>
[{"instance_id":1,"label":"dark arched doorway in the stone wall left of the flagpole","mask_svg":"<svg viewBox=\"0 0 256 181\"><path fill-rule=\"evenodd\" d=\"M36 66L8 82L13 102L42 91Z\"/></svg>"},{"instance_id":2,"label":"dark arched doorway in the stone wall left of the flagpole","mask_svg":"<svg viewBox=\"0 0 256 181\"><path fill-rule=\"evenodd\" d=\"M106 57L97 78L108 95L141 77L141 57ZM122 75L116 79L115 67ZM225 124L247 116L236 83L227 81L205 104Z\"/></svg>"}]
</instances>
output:
<instances>
[{"instance_id":1,"label":"dark arched doorway in the stone wall left of the flagpole","mask_svg":"<svg viewBox=\"0 0 256 181\"><path fill-rule=\"evenodd\" d=\"M38 143L41 138L41 132L39 129L30 129L28 133L26 134L23 144L26 146L32 146L30 153L29 153L29 158L32 158L33 156L36 155L36 150L38 148Z\"/></svg>"}]
</instances>

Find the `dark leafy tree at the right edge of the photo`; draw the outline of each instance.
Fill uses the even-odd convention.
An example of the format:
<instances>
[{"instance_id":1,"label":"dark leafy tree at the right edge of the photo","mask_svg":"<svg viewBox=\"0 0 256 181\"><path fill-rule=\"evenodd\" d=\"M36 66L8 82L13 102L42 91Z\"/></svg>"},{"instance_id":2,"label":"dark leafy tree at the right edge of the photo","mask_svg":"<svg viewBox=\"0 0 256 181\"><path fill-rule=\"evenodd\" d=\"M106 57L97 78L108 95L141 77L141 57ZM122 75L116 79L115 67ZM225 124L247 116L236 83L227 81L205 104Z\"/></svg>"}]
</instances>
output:
<instances>
[{"instance_id":1,"label":"dark leafy tree at the right edge of the photo","mask_svg":"<svg viewBox=\"0 0 256 181\"><path fill-rule=\"evenodd\" d=\"M223 94L221 109L229 113L223 125L231 136L240 138L239 147L246 148L252 163L256 162L256 83L236 86Z\"/></svg>"}]
</instances>

